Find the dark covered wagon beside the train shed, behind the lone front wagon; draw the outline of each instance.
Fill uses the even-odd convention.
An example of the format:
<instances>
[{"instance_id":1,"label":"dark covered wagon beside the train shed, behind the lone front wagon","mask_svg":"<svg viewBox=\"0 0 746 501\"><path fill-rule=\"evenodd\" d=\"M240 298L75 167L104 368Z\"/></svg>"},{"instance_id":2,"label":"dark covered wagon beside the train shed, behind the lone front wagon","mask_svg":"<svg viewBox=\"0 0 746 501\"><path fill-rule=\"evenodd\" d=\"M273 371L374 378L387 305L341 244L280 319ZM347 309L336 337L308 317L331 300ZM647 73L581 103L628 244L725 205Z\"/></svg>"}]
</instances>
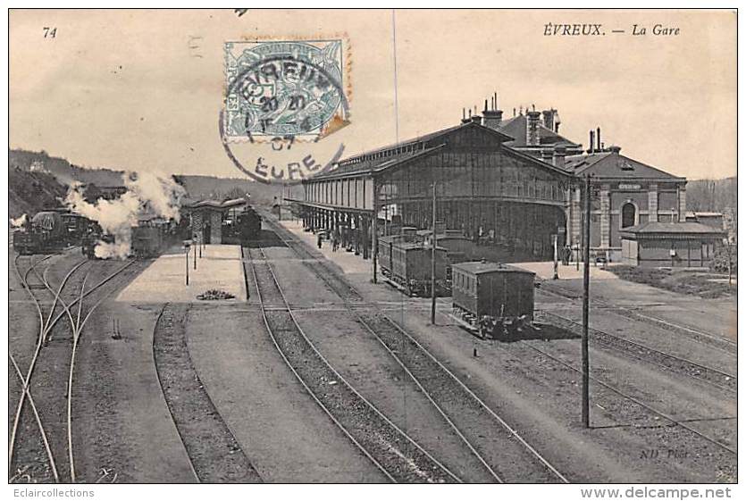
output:
<instances>
[{"instance_id":1,"label":"dark covered wagon beside the train shed, behind the lone front wagon","mask_svg":"<svg viewBox=\"0 0 746 501\"><path fill-rule=\"evenodd\" d=\"M378 243L381 273L409 296L429 296L432 277L432 248L407 241L406 236L381 237ZM446 249L435 249L435 292L448 290Z\"/></svg>"}]
</instances>

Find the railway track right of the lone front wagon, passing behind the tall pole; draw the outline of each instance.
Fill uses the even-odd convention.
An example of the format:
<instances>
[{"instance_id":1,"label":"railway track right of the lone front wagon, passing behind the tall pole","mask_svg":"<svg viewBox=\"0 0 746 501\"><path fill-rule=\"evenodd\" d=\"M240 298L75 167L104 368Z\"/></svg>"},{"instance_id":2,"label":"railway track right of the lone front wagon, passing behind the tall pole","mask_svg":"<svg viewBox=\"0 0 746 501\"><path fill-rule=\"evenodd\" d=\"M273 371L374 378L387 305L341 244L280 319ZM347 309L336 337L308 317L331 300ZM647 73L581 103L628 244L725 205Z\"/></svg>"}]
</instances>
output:
<instances>
[{"instance_id":1,"label":"railway track right of the lone front wagon, passing behind the tall pole","mask_svg":"<svg viewBox=\"0 0 746 501\"><path fill-rule=\"evenodd\" d=\"M583 325L563 317L557 313L541 311L537 314L537 320L551 323L565 330L570 330L577 335L582 334ZM603 330L589 329L591 341L595 341L605 347L610 347L624 355L635 359L649 362L665 369L666 371L682 374L696 380L701 380L716 388L724 389L732 393L738 390L738 378L727 372L722 372L701 363L692 362L686 358L671 355L657 349L646 347L640 343L627 338L621 338Z\"/></svg>"}]
</instances>

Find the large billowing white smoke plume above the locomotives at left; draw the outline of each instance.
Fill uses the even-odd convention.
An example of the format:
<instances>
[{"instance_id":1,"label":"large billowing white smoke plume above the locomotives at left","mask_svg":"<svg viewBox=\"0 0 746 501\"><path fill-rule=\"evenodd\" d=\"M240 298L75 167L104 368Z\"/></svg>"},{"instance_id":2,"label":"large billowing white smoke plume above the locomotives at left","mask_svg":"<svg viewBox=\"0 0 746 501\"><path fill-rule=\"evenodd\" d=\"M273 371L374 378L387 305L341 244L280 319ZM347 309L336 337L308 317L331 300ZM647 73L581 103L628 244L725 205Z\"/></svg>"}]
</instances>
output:
<instances>
[{"instance_id":1,"label":"large billowing white smoke plume above the locomotives at left","mask_svg":"<svg viewBox=\"0 0 746 501\"><path fill-rule=\"evenodd\" d=\"M132 228L143 214L179 221L183 187L172 178L152 172L125 172L122 176L127 191L113 200L104 198L91 204L83 197L80 184L71 186L65 205L71 211L98 222L101 230L111 234L114 242L99 241L94 249L96 257L124 259L130 255Z\"/></svg>"}]
</instances>

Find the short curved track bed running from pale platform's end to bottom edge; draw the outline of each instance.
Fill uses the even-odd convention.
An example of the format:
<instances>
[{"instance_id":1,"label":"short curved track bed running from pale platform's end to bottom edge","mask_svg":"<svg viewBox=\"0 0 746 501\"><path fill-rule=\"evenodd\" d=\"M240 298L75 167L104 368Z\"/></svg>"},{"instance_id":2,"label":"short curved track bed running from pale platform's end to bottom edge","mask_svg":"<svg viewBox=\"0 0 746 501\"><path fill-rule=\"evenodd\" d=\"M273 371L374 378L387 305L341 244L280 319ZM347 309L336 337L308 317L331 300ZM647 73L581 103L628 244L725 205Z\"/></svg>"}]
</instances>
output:
<instances>
[{"instance_id":1,"label":"short curved track bed running from pale platform's end to bottom edge","mask_svg":"<svg viewBox=\"0 0 746 501\"><path fill-rule=\"evenodd\" d=\"M163 305L155 321L158 382L197 482L259 483L261 476L218 413L189 356L188 305Z\"/></svg>"}]
</instances>

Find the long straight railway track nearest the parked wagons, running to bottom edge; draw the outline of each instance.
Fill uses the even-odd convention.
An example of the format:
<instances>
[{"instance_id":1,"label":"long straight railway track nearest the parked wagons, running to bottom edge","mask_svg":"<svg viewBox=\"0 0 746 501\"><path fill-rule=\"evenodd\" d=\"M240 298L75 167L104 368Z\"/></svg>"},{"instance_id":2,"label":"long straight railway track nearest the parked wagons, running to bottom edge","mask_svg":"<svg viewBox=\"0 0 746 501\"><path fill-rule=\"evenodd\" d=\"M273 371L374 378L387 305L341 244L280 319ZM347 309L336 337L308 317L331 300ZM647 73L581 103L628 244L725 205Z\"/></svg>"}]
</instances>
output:
<instances>
[{"instance_id":1,"label":"long straight railway track nearest the parked wagons, running to bottom edge","mask_svg":"<svg viewBox=\"0 0 746 501\"><path fill-rule=\"evenodd\" d=\"M272 225L275 229L278 228ZM298 255L314 257L292 237L283 241ZM407 372L423 395L490 473L491 478L499 482L568 481L515 428L486 405L397 322L391 321L380 309L365 305L363 296L321 261L310 259L303 262L345 301L356 321Z\"/></svg>"}]
</instances>

